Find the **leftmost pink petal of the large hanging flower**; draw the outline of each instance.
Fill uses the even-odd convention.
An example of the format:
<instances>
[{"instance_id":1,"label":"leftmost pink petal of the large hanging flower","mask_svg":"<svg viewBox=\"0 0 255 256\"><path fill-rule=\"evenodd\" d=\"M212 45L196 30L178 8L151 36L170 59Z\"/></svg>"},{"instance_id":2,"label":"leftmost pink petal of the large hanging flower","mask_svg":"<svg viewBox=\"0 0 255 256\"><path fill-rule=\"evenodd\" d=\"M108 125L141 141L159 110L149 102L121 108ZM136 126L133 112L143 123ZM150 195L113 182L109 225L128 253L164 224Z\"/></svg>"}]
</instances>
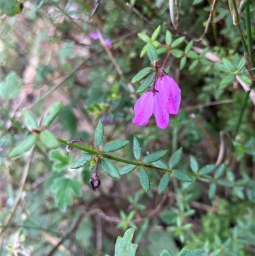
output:
<instances>
[{"instance_id":1,"label":"leftmost pink petal of the large hanging flower","mask_svg":"<svg viewBox=\"0 0 255 256\"><path fill-rule=\"evenodd\" d=\"M147 91L143 94L140 99L135 103L135 118L133 119L133 124L146 125L149 122L150 117L153 112L153 93L152 91Z\"/></svg>"}]
</instances>

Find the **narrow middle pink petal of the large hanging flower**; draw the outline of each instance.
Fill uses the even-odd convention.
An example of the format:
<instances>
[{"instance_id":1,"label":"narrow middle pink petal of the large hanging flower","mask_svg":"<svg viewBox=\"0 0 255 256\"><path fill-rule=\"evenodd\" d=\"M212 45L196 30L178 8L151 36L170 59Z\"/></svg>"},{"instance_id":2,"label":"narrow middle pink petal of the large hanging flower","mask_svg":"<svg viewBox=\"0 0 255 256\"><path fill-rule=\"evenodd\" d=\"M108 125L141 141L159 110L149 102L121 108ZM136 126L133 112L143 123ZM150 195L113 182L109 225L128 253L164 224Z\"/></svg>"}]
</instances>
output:
<instances>
[{"instance_id":1,"label":"narrow middle pink petal of the large hanging flower","mask_svg":"<svg viewBox=\"0 0 255 256\"><path fill-rule=\"evenodd\" d=\"M157 126L161 129L165 129L168 126L169 114L161 102L159 93L154 95L153 113L156 118Z\"/></svg>"}]
</instances>

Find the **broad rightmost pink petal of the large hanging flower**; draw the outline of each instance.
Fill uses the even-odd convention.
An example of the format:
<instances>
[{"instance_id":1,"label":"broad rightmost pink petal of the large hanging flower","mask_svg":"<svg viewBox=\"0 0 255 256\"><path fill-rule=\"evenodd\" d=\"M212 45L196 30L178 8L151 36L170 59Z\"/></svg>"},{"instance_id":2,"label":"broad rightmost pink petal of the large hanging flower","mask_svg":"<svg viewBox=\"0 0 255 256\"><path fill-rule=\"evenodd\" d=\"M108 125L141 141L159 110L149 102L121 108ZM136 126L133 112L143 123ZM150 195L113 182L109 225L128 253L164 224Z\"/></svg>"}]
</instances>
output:
<instances>
[{"instance_id":1,"label":"broad rightmost pink petal of the large hanging flower","mask_svg":"<svg viewBox=\"0 0 255 256\"><path fill-rule=\"evenodd\" d=\"M168 75L164 75L162 78L157 79L156 89L159 91L161 102L168 113L172 115L178 114L181 91L175 80Z\"/></svg>"}]
</instances>

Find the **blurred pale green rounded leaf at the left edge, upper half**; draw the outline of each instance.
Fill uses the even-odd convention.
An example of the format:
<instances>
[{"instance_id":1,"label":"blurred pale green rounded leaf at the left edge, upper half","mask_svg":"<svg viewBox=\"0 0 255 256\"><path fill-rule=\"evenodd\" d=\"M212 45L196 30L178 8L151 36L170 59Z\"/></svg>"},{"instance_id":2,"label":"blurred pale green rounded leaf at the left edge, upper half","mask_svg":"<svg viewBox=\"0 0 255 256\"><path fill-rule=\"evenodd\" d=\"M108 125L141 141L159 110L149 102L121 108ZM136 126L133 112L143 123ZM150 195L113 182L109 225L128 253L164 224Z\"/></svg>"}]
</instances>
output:
<instances>
[{"instance_id":1,"label":"blurred pale green rounded leaf at the left edge, upper half","mask_svg":"<svg viewBox=\"0 0 255 256\"><path fill-rule=\"evenodd\" d=\"M21 89L22 83L20 77L18 77L16 72L10 72L4 82L0 83L0 96L4 100L11 100L18 96Z\"/></svg>"}]
</instances>

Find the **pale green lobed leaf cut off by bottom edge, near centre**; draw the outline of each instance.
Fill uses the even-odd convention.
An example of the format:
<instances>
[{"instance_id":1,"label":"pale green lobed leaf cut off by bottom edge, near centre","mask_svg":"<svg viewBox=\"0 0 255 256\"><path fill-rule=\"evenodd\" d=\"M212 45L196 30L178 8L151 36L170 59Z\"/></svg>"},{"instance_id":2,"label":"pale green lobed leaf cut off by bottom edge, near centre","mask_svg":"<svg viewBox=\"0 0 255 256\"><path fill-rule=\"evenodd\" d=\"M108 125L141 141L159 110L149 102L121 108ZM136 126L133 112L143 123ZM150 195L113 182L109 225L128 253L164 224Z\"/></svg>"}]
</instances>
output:
<instances>
[{"instance_id":1,"label":"pale green lobed leaf cut off by bottom edge, near centre","mask_svg":"<svg viewBox=\"0 0 255 256\"><path fill-rule=\"evenodd\" d=\"M137 245L132 243L135 229L126 230L123 238L118 237L115 244L114 256L135 256Z\"/></svg>"}]
</instances>

